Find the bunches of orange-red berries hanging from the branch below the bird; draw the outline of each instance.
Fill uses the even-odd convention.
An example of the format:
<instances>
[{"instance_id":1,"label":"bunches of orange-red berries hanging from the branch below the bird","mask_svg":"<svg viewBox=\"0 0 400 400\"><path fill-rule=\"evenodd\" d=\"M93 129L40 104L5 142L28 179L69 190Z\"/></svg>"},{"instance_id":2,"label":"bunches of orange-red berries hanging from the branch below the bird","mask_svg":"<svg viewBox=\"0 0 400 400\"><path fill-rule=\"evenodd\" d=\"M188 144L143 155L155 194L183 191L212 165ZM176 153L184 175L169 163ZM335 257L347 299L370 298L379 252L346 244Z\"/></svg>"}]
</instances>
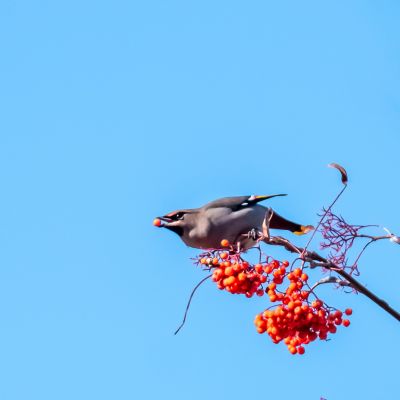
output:
<instances>
[{"instance_id":1,"label":"bunches of orange-red berries hanging from the branch below the bird","mask_svg":"<svg viewBox=\"0 0 400 400\"><path fill-rule=\"evenodd\" d=\"M221 245L228 247L229 242ZM275 304L255 317L256 329L267 333L274 343L283 341L292 354L304 354L304 345L326 340L328 334L336 333L338 325L350 325L343 314L351 315L352 310L343 313L317 298L311 301L310 295L315 294L307 283L308 275L301 268L290 269L287 261L253 265L231 249L212 251L200 256L198 262L213 270L212 279L221 290L247 297L266 293Z\"/></svg>"}]
</instances>

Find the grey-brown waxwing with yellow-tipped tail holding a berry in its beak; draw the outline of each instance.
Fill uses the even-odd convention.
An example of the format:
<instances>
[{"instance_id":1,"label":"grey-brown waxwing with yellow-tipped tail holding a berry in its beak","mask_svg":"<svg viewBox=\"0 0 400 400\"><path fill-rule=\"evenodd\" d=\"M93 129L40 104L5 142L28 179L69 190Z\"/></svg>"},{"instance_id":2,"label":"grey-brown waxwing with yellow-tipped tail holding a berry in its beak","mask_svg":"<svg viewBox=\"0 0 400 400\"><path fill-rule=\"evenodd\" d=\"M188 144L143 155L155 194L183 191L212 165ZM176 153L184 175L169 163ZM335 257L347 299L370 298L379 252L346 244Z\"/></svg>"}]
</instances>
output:
<instances>
[{"instance_id":1,"label":"grey-brown waxwing with yellow-tipped tail holding a berry in its beak","mask_svg":"<svg viewBox=\"0 0 400 400\"><path fill-rule=\"evenodd\" d=\"M278 196L286 194L224 197L200 208L176 210L157 217L155 225L176 233L189 247L220 249L221 241L226 239L231 244L240 243L240 248L247 250L257 244L254 233L262 232L266 213L271 210L258 203ZM275 211L271 213L269 228L297 235L314 229L311 225L289 221Z\"/></svg>"}]
</instances>

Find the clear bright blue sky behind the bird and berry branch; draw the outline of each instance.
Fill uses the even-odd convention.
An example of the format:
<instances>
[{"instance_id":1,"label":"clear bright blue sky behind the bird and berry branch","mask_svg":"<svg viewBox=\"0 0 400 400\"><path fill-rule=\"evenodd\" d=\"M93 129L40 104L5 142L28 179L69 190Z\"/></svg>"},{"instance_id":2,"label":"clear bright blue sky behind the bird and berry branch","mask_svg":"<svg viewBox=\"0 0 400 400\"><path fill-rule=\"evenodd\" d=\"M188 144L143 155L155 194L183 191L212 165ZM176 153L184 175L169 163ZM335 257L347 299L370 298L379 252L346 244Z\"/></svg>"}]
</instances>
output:
<instances>
[{"instance_id":1,"label":"clear bright blue sky behind the bird and berry branch","mask_svg":"<svg viewBox=\"0 0 400 400\"><path fill-rule=\"evenodd\" d=\"M2 1L0 398L396 398L400 326L361 295L323 288L352 325L303 357L255 332L264 299L211 282L173 336L204 273L151 222L285 192L271 205L315 223L335 161L336 210L400 232L399 19L396 1ZM400 247L361 264L399 309Z\"/></svg>"}]
</instances>

